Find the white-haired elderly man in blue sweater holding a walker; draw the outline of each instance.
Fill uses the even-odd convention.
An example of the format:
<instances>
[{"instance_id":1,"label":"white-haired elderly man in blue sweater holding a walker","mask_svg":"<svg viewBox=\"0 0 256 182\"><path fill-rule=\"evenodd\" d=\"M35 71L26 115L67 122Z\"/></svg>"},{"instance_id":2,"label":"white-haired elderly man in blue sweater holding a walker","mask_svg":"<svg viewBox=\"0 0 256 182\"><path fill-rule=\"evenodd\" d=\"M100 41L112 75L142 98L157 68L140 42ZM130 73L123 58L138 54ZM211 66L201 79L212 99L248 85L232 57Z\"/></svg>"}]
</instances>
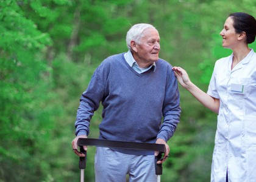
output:
<instances>
[{"instance_id":1,"label":"white-haired elderly man in blue sweater holding a walker","mask_svg":"<svg viewBox=\"0 0 256 182\"><path fill-rule=\"evenodd\" d=\"M77 136L72 142L78 156L83 154L77 151L77 140L87 138L99 103L103 106L99 139L165 144L164 158L168 156L166 142L180 118L179 90L172 66L158 58L160 36L150 24L133 25L126 44L129 51L106 58L82 93L75 123ZM130 181L157 181L154 163L152 151L97 147L95 178L126 181L128 174Z\"/></svg>"}]
</instances>

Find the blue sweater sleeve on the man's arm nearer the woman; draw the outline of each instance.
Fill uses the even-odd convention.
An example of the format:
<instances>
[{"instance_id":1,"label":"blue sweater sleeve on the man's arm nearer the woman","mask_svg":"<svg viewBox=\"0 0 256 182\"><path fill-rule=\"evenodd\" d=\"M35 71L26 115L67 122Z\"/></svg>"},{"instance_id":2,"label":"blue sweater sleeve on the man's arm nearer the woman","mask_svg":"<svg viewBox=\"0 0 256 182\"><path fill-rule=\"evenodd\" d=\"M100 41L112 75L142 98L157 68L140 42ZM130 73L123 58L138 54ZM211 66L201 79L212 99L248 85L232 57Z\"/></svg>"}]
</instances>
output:
<instances>
[{"instance_id":1,"label":"blue sweater sleeve on the man's arm nearer the woman","mask_svg":"<svg viewBox=\"0 0 256 182\"><path fill-rule=\"evenodd\" d=\"M163 123L158 132L157 138L166 142L174 135L177 124L180 121L180 94L176 76L168 67L166 77L165 101L163 103Z\"/></svg>"}]
</instances>

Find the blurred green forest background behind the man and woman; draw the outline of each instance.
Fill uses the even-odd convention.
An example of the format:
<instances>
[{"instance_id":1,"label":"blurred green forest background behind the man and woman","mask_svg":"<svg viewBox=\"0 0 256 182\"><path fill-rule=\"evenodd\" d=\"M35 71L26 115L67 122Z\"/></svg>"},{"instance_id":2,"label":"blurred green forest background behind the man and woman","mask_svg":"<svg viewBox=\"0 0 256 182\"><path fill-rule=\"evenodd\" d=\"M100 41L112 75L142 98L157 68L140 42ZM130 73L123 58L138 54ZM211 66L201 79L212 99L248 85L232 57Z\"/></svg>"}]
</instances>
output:
<instances>
[{"instance_id":1,"label":"blurred green forest background behind the man and woman","mask_svg":"<svg viewBox=\"0 0 256 182\"><path fill-rule=\"evenodd\" d=\"M107 56L126 52L131 25L153 24L160 57L202 90L227 15L255 15L251 0L0 0L0 181L79 181L71 141L79 98ZM256 50L255 43L250 45ZM216 115L180 87L182 116L162 181L210 181ZM101 109L91 121L98 137ZM94 181L94 147L86 181Z\"/></svg>"}]
</instances>

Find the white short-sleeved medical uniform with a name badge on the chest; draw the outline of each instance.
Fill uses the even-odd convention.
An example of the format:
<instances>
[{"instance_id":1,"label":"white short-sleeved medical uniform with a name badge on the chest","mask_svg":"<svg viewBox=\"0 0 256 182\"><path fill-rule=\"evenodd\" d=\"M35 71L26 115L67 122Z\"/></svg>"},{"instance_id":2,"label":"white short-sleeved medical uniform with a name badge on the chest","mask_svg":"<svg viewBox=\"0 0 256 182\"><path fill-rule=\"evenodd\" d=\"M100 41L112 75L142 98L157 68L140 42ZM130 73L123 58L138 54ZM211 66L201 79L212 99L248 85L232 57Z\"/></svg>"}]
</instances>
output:
<instances>
[{"instance_id":1,"label":"white short-sleeved medical uniform with a name badge on the chest","mask_svg":"<svg viewBox=\"0 0 256 182\"><path fill-rule=\"evenodd\" d=\"M233 69L233 54L216 61L208 95L220 107L211 181L256 181L256 53L251 52Z\"/></svg>"}]
</instances>

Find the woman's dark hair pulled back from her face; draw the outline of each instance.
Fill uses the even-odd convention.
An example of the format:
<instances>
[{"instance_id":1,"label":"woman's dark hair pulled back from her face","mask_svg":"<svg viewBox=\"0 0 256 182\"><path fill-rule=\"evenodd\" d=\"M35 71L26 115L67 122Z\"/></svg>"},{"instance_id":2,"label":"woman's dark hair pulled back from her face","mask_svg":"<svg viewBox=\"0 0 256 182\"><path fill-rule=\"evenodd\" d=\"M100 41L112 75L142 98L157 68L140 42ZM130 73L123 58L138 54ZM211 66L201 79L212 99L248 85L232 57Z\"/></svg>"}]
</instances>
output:
<instances>
[{"instance_id":1,"label":"woman's dark hair pulled back from her face","mask_svg":"<svg viewBox=\"0 0 256 182\"><path fill-rule=\"evenodd\" d=\"M248 15L247 13L231 13L229 15L233 19L233 27L236 33L246 33L246 43L251 44L255 41L256 35L256 20L254 16Z\"/></svg>"}]
</instances>

